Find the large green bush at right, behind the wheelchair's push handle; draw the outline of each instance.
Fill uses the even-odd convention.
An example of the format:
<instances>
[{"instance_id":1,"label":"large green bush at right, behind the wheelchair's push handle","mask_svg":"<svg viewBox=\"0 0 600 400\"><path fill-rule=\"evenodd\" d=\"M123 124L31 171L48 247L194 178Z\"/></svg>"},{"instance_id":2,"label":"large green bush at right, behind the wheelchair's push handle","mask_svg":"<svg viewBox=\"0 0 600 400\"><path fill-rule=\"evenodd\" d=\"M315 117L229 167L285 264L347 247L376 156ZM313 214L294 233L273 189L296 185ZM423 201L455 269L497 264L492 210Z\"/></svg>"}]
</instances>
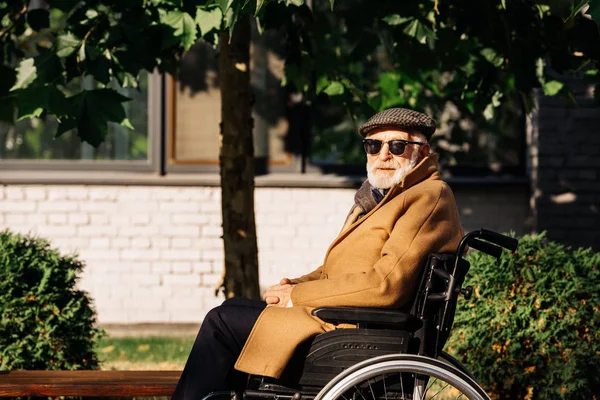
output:
<instances>
[{"instance_id":1,"label":"large green bush at right, behind the wheelchair's push handle","mask_svg":"<svg viewBox=\"0 0 600 400\"><path fill-rule=\"evenodd\" d=\"M600 393L600 253L519 240L499 262L474 251L447 351L496 399Z\"/></svg>"}]
</instances>

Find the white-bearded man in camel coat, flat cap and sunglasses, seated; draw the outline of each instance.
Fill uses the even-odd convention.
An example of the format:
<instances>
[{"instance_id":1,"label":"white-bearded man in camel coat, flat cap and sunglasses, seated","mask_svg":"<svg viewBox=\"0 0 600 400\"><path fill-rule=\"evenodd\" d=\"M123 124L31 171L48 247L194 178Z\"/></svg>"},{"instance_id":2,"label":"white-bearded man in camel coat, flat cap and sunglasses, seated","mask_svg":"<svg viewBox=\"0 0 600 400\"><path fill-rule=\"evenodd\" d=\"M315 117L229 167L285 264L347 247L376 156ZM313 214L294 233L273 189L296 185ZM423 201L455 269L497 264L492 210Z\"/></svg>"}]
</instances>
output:
<instances>
[{"instance_id":1,"label":"white-bearded man in camel coat, flat cap and sunglasses, seated","mask_svg":"<svg viewBox=\"0 0 600 400\"><path fill-rule=\"evenodd\" d=\"M235 388L244 374L279 378L300 343L339 328L312 316L316 307L410 303L426 257L454 251L463 235L427 143L434 132L431 118L402 108L360 127L368 180L323 265L269 287L264 302L229 299L211 310L173 399Z\"/></svg>"}]
</instances>

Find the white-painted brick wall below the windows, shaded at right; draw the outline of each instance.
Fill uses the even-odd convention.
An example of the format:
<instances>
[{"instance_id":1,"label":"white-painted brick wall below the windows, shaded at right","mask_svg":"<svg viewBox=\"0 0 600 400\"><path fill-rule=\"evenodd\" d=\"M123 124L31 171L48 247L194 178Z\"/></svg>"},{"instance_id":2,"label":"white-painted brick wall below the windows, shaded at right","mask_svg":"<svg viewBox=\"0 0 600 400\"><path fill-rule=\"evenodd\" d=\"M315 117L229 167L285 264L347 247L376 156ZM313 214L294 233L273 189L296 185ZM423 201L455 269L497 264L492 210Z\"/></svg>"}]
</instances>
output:
<instances>
[{"instance_id":1,"label":"white-painted brick wall below the windows, shaded at right","mask_svg":"<svg viewBox=\"0 0 600 400\"><path fill-rule=\"evenodd\" d=\"M525 189L455 190L466 229L523 233ZM257 188L261 286L321 265L353 189ZM193 322L223 299L220 189L140 186L0 186L0 229L32 232L87 267L80 286L101 323ZM498 210L504 210L500 213Z\"/></svg>"}]
</instances>

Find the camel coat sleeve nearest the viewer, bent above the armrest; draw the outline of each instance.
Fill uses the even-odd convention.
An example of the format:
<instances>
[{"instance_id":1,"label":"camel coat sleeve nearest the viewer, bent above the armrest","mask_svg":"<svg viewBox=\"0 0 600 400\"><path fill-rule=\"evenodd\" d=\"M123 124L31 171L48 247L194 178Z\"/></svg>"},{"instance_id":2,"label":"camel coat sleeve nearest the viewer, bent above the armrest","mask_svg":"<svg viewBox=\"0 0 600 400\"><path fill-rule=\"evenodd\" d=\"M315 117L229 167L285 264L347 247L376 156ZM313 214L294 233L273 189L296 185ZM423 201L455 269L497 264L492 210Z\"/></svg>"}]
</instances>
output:
<instances>
[{"instance_id":1,"label":"camel coat sleeve nearest the viewer, bent above the armrest","mask_svg":"<svg viewBox=\"0 0 600 400\"><path fill-rule=\"evenodd\" d=\"M454 196L445 183L406 196L400 218L370 270L300 282L292 290L294 306L397 307L407 303L427 256L454 252L462 228Z\"/></svg>"}]
</instances>

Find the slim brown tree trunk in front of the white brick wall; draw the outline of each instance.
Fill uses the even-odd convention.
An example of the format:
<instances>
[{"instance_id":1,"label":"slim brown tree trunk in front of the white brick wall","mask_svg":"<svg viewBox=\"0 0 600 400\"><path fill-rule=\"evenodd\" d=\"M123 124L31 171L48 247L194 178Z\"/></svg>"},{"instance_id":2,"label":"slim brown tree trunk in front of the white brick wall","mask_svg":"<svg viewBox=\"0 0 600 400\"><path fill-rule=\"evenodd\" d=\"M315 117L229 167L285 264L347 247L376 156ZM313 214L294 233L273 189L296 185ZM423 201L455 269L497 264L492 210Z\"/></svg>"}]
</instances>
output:
<instances>
[{"instance_id":1,"label":"slim brown tree trunk in front of the white brick wall","mask_svg":"<svg viewBox=\"0 0 600 400\"><path fill-rule=\"evenodd\" d=\"M240 16L233 37L220 37L221 209L227 298L260 298L254 223L254 145L250 87L250 20Z\"/></svg>"}]
</instances>

